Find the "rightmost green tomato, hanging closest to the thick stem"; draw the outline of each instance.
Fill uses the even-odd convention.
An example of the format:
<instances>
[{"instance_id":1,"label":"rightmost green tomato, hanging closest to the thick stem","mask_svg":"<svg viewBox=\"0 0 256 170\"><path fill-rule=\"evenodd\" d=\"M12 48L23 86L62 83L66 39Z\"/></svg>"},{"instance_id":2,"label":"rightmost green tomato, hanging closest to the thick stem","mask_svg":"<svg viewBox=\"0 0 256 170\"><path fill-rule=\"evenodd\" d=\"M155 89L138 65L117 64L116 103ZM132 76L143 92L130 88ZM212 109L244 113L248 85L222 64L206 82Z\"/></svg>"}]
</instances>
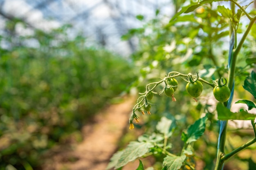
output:
<instances>
[{"instance_id":1,"label":"rightmost green tomato, hanging closest to the thick stem","mask_svg":"<svg viewBox=\"0 0 256 170\"><path fill-rule=\"evenodd\" d=\"M227 102L230 97L230 89L227 86L216 86L213 88L213 95L219 102Z\"/></svg>"}]
</instances>

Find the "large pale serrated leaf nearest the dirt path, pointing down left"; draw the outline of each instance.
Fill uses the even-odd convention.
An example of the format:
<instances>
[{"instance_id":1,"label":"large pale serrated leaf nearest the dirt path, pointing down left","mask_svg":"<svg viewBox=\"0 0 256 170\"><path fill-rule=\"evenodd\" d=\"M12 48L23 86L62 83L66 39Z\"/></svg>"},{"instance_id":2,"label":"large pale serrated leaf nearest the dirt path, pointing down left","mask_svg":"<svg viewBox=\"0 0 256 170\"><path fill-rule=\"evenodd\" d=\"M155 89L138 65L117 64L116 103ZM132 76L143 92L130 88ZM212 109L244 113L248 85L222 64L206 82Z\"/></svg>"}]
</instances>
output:
<instances>
[{"instance_id":1,"label":"large pale serrated leaf nearest the dirt path, pointing down left","mask_svg":"<svg viewBox=\"0 0 256 170\"><path fill-rule=\"evenodd\" d=\"M134 161L138 157L143 156L144 154L150 152L150 148L153 148L154 145L150 142L137 142L132 141L124 149L123 154L119 157L119 160L115 168L122 167L130 161Z\"/></svg>"}]
</instances>

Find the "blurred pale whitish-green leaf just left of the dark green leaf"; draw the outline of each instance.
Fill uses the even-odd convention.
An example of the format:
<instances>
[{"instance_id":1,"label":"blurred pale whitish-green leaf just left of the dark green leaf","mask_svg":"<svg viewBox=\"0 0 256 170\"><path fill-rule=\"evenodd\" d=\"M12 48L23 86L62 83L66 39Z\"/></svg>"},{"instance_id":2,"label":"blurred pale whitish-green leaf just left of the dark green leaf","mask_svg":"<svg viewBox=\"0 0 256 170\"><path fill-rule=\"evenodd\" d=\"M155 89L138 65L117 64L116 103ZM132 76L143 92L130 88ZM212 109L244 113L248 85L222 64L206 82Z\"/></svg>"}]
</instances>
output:
<instances>
[{"instance_id":1,"label":"blurred pale whitish-green leaf just left of the dark green leaf","mask_svg":"<svg viewBox=\"0 0 256 170\"><path fill-rule=\"evenodd\" d=\"M156 126L156 129L167 137L170 137L173 134L174 128L175 122L171 119L167 119L166 117L162 117Z\"/></svg>"}]
</instances>

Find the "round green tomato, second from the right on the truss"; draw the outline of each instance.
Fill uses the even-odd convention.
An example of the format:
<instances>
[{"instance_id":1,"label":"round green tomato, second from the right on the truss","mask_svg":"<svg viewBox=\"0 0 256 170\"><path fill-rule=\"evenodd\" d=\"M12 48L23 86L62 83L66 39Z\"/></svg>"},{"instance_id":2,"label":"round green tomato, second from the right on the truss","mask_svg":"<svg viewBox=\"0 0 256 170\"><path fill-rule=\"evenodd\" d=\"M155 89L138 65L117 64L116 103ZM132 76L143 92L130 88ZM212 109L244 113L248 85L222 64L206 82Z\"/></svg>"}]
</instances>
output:
<instances>
[{"instance_id":1,"label":"round green tomato, second from the right on the truss","mask_svg":"<svg viewBox=\"0 0 256 170\"><path fill-rule=\"evenodd\" d=\"M189 82L186 84L186 91L194 98L199 97L203 91L203 85L199 81Z\"/></svg>"}]
</instances>

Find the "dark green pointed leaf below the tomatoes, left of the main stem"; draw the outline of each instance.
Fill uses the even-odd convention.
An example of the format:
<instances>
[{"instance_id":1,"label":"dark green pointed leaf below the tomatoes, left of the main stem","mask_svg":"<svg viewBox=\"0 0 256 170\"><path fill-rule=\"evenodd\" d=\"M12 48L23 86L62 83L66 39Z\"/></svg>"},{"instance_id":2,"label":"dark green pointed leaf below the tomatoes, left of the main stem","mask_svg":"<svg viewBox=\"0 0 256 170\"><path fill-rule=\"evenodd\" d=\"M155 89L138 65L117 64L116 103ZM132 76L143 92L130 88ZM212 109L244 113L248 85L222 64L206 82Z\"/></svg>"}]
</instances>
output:
<instances>
[{"instance_id":1,"label":"dark green pointed leaf below the tomatoes, left of the main stem","mask_svg":"<svg viewBox=\"0 0 256 170\"><path fill-rule=\"evenodd\" d=\"M205 122L207 121L207 115L195 121L195 123L189 126L187 132L182 133L182 140L186 144L190 144L193 141L196 141L199 137L204 134Z\"/></svg>"}]
</instances>

